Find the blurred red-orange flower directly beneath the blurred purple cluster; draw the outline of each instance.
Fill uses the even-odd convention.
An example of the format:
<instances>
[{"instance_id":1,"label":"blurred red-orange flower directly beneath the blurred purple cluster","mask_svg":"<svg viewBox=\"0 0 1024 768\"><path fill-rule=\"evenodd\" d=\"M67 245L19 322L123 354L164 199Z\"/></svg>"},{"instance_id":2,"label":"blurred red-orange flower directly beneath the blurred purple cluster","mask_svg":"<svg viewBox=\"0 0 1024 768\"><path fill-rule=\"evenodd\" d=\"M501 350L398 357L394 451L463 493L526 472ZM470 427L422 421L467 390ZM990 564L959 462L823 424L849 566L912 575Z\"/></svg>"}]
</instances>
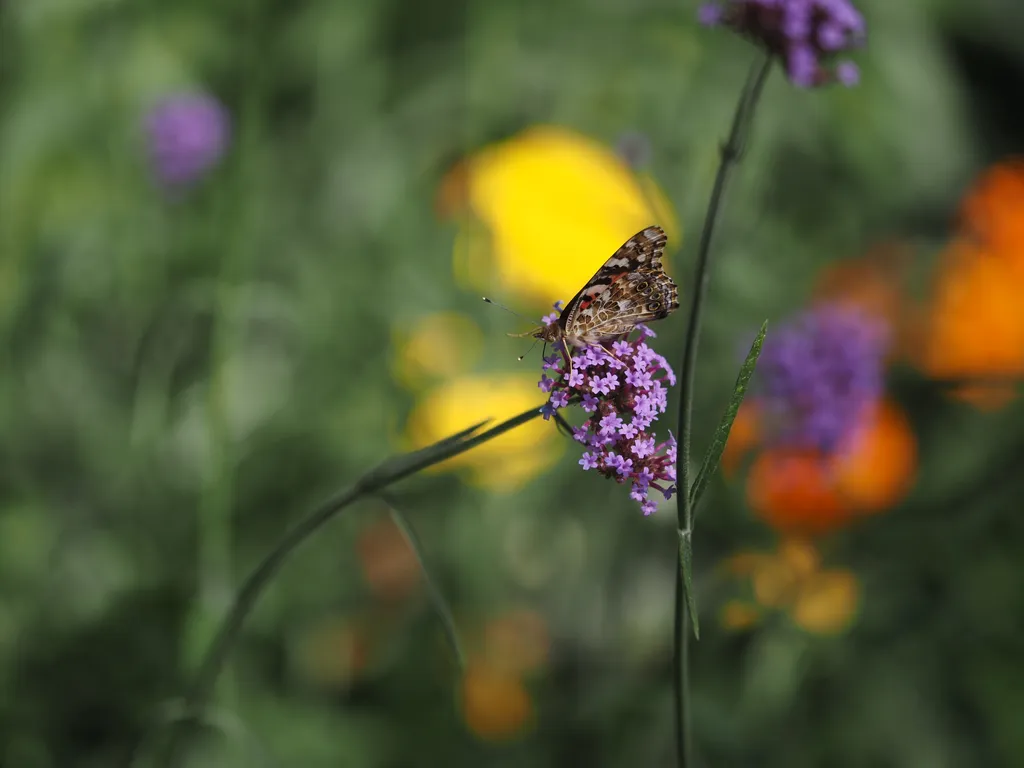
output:
<instances>
[{"instance_id":1,"label":"blurred red-orange flower directly beneath the blurred purple cluster","mask_svg":"<svg viewBox=\"0 0 1024 768\"><path fill-rule=\"evenodd\" d=\"M761 451L746 477L746 499L776 530L825 534L898 503L916 463L916 440L906 417L883 401L867 413L855 439L835 454Z\"/></svg>"}]
</instances>

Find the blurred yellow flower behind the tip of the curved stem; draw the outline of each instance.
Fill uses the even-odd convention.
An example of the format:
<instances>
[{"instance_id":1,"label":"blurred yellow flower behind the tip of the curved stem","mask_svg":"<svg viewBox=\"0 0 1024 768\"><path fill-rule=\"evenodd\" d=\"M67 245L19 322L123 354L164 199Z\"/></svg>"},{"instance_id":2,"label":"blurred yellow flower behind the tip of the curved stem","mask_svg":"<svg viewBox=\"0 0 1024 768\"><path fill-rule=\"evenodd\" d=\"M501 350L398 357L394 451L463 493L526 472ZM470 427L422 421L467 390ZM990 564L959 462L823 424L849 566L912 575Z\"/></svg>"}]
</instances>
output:
<instances>
[{"instance_id":1,"label":"blurred yellow flower behind the tip of the curved stem","mask_svg":"<svg viewBox=\"0 0 1024 768\"><path fill-rule=\"evenodd\" d=\"M480 375L453 379L428 392L409 418L413 449L424 447L466 427L493 423L538 407L544 397L530 375ZM430 471L468 470L468 479L492 490L514 490L550 467L564 450L554 424L535 419L435 465Z\"/></svg>"}]
</instances>

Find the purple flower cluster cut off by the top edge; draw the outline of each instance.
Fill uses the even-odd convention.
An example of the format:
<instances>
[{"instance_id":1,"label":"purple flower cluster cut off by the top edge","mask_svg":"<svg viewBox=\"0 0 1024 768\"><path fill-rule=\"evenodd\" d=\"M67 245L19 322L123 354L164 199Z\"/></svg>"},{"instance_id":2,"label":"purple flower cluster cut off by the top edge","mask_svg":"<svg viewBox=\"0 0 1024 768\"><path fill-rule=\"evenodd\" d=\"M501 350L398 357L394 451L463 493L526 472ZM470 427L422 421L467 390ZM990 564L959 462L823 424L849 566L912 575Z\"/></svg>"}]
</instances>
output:
<instances>
[{"instance_id":1,"label":"purple flower cluster cut off by the top edge","mask_svg":"<svg viewBox=\"0 0 1024 768\"><path fill-rule=\"evenodd\" d=\"M863 42L864 17L850 0L721 0L701 6L698 16L703 25L728 27L764 46L782 59L796 85L851 86L860 77L852 61L825 66Z\"/></svg>"}]
</instances>

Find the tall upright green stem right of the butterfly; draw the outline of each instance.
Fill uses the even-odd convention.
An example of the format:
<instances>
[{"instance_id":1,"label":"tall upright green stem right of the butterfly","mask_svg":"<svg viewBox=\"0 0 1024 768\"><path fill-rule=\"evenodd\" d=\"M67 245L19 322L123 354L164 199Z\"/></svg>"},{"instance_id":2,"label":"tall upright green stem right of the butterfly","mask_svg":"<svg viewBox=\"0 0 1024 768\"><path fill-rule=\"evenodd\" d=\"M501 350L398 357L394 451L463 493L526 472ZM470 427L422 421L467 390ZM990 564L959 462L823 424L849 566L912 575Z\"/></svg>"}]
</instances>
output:
<instances>
[{"instance_id":1,"label":"tall upright green stem right of the butterfly","mask_svg":"<svg viewBox=\"0 0 1024 768\"><path fill-rule=\"evenodd\" d=\"M677 485L677 527L687 535L693 526L693 506L689 494L690 443L693 427L693 385L696 377L697 345L700 339L700 321L703 314L705 298L708 293L708 283L711 276L709 261L711 245L715 234L722 204L725 200L725 189L733 166L742 155L754 119L755 106L761 96L768 73L771 71L771 57L762 55L751 70L746 84L743 87L732 118L729 137L722 146L722 158L715 176L711 200L708 203L708 213L705 216L703 229L697 246L697 261L693 281L693 298L690 302L689 323L686 330L686 341L683 347L683 362L680 368L680 409L679 409L679 454L676 459ZM693 739L690 726L689 707L689 631L688 612L683 593L682 561L677 558L676 566L676 605L673 635L673 689L676 707L676 760L683 768L692 766Z\"/></svg>"}]
</instances>

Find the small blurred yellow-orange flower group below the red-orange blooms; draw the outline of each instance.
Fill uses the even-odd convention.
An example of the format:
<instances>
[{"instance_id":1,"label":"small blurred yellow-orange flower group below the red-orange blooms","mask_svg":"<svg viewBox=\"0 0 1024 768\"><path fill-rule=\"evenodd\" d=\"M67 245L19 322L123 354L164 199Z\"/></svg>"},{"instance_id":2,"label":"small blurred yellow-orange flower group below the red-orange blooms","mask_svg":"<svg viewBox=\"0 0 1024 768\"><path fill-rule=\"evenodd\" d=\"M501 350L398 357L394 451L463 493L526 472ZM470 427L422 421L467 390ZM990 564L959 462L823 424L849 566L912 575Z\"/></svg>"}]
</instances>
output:
<instances>
[{"instance_id":1,"label":"small blurred yellow-orange flower group below the red-orange blooms","mask_svg":"<svg viewBox=\"0 0 1024 768\"><path fill-rule=\"evenodd\" d=\"M806 632L833 635L848 629L860 603L860 584L846 568L821 568L821 556L807 541L788 539L776 552L742 552L730 557L726 570L749 577L755 604L726 603L723 626L749 629L761 608L781 610Z\"/></svg>"}]
</instances>

